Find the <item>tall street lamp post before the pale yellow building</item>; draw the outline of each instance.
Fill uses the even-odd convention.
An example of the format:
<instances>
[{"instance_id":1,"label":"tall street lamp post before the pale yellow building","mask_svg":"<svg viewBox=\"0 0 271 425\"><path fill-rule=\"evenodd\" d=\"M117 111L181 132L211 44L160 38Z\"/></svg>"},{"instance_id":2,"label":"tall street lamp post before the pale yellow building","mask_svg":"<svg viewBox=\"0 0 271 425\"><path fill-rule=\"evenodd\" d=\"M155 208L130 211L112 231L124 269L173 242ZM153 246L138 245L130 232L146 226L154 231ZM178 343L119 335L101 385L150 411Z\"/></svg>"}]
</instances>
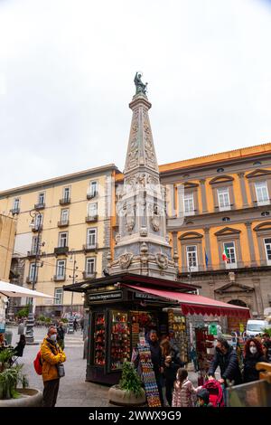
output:
<instances>
[{"instance_id":1,"label":"tall street lamp post before the pale yellow building","mask_svg":"<svg viewBox=\"0 0 271 425\"><path fill-rule=\"evenodd\" d=\"M33 273L33 282L32 282L32 289L35 289L35 282L37 281L37 268L42 267L42 263L39 263L39 254L40 254L40 248L44 245L44 243L40 242L40 234L42 230L42 214L39 211L32 210L30 212L30 215L32 217L32 222L30 224L31 227L35 226L38 222L37 226L37 240L35 243L35 262L34 262L34 273ZM26 332L25 332L25 339L27 345L34 345L38 344L34 342L34 335L33 335L33 326L34 326L34 315L33 315L33 298L30 298L30 304L29 304L29 313L27 317L26 322Z\"/></svg>"}]
</instances>

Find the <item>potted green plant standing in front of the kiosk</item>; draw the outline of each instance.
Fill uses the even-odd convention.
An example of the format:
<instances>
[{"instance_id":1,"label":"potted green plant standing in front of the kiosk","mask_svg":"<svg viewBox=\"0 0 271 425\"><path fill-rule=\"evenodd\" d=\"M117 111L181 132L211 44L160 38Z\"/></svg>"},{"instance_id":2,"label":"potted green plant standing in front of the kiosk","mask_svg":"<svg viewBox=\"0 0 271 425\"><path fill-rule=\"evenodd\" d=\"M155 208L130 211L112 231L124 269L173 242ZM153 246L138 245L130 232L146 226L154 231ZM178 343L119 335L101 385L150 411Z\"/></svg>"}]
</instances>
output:
<instances>
[{"instance_id":1,"label":"potted green plant standing in front of the kiosk","mask_svg":"<svg viewBox=\"0 0 271 425\"><path fill-rule=\"evenodd\" d=\"M113 385L108 392L109 402L118 406L140 406L145 404L145 391L142 382L131 362L122 366L119 383Z\"/></svg>"}]
</instances>

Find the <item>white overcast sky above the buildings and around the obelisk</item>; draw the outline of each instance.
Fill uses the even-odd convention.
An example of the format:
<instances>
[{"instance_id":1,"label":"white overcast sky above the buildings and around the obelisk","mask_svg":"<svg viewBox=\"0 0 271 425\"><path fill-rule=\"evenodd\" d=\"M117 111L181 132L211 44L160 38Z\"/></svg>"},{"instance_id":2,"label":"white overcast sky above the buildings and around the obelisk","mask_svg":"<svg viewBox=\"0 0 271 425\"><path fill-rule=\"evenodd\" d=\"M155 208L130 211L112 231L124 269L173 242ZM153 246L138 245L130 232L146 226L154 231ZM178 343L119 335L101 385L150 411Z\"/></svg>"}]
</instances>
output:
<instances>
[{"instance_id":1,"label":"white overcast sky above the buildings and around the obelisk","mask_svg":"<svg viewBox=\"0 0 271 425\"><path fill-rule=\"evenodd\" d=\"M0 0L0 190L115 163L135 71L159 164L271 142L271 2Z\"/></svg>"}]
</instances>

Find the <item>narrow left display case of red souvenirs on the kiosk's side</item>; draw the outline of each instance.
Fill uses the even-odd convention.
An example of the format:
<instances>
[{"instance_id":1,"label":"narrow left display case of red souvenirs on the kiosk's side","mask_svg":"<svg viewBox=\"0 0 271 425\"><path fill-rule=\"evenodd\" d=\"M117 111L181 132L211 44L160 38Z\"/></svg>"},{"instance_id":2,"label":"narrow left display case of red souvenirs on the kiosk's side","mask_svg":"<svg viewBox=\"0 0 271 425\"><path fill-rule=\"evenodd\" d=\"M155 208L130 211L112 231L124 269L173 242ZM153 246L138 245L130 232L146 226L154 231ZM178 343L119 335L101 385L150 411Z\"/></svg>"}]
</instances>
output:
<instances>
[{"instance_id":1,"label":"narrow left display case of red souvenirs on the kiosk's side","mask_svg":"<svg viewBox=\"0 0 271 425\"><path fill-rule=\"evenodd\" d=\"M106 364L106 317L102 313L94 315L94 364Z\"/></svg>"}]
</instances>

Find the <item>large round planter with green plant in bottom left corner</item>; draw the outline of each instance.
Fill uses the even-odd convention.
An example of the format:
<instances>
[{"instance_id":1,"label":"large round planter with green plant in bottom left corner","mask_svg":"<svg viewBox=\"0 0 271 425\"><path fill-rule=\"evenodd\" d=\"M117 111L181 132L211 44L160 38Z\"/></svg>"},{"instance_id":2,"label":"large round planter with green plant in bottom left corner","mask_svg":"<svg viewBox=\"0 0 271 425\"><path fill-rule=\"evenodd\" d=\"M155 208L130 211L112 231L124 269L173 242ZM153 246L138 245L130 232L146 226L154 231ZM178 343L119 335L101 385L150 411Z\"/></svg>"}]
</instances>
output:
<instances>
[{"instance_id":1,"label":"large round planter with green plant in bottom left corner","mask_svg":"<svg viewBox=\"0 0 271 425\"><path fill-rule=\"evenodd\" d=\"M0 351L0 408L40 406L42 393L29 389L28 380L23 374L23 364L13 364L14 352L11 348ZM18 388L18 384L22 388Z\"/></svg>"}]
</instances>

